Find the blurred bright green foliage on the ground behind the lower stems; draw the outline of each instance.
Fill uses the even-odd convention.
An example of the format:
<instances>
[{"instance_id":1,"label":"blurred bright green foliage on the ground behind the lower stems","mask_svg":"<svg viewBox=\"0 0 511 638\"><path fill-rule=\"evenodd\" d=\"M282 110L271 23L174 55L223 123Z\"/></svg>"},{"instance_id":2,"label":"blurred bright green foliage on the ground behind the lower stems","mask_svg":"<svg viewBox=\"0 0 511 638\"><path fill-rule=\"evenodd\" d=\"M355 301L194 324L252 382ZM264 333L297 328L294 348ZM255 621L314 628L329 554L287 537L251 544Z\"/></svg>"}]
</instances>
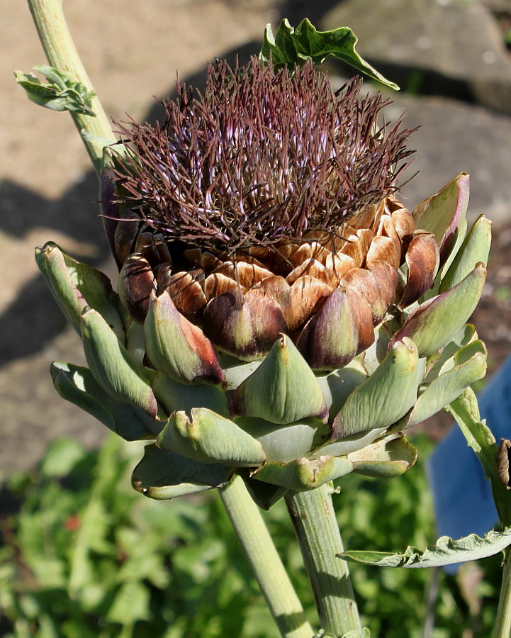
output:
<instances>
[{"instance_id":1,"label":"blurred bright green foliage on the ground behind the lower stems","mask_svg":"<svg viewBox=\"0 0 511 638\"><path fill-rule=\"evenodd\" d=\"M334 497L347 549L404 550L435 539L424 459L403 477L350 475ZM215 492L155 502L130 489L137 444L99 452L50 447L37 471L9 480L19 513L1 521L6 638L271 638L276 629ZM286 507L265 514L313 626L313 598ZM458 577L350 565L374 637L490 635L500 557ZM431 601L436 598L435 603ZM427 603L427 601L430 601ZM434 629L425 634L425 624Z\"/></svg>"}]
</instances>

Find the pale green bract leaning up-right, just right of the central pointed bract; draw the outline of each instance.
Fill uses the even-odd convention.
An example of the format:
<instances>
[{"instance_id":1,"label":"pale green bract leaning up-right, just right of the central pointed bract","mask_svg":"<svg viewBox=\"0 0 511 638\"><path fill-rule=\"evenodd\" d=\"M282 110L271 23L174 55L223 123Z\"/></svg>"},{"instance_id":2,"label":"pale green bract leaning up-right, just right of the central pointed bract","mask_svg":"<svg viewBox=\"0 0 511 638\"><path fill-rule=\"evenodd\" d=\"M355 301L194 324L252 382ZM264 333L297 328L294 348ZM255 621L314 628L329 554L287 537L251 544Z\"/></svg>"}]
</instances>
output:
<instances>
[{"instance_id":1,"label":"pale green bract leaning up-right, just right of the central pointed bract","mask_svg":"<svg viewBox=\"0 0 511 638\"><path fill-rule=\"evenodd\" d=\"M415 343L406 337L395 343L374 374L342 406L332 426L332 440L399 420L415 404L423 372Z\"/></svg>"}]
</instances>

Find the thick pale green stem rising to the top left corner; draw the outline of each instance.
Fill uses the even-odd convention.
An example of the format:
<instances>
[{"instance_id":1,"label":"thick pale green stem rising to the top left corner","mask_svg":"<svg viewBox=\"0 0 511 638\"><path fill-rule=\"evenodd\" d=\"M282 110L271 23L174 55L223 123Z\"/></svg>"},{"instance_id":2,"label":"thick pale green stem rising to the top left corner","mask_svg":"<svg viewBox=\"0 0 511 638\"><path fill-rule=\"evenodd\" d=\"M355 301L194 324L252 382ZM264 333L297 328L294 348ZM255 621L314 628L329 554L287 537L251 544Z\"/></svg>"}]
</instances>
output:
<instances>
[{"instance_id":1,"label":"thick pale green stem rising to the top left corner","mask_svg":"<svg viewBox=\"0 0 511 638\"><path fill-rule=\"evenodd\" d=\"M28 0L28 6L50 66L66 74L74 82L81 82L89 91L94 90L67 28L62 13L62 0ZM97 97L92 100L92 111L96 117L79 113L71 115L96 173L99 174L103 147L116 140Z\"/></svg>"}]
</instances>

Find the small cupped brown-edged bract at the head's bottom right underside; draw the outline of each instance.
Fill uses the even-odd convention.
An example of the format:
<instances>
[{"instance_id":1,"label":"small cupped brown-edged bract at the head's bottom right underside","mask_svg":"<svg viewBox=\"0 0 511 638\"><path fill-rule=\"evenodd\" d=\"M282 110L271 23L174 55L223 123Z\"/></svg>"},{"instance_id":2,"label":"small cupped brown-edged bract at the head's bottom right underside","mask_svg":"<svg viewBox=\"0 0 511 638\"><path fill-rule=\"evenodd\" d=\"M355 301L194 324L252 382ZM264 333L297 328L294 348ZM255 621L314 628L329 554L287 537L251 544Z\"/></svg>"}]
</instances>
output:
<instances>
[{"instance_id":1,"label":"small cupped brown-edged bract at the head's bottom right underside","mask_svg":"<svg viewBox=\"0 0 511 638\"><path fill-rule=\"evenodd\" d=\"M405 437L389 435L348 455L354 472L374 478L404 474L417 461L417 450Z\"/></svg>"}]
</instances>

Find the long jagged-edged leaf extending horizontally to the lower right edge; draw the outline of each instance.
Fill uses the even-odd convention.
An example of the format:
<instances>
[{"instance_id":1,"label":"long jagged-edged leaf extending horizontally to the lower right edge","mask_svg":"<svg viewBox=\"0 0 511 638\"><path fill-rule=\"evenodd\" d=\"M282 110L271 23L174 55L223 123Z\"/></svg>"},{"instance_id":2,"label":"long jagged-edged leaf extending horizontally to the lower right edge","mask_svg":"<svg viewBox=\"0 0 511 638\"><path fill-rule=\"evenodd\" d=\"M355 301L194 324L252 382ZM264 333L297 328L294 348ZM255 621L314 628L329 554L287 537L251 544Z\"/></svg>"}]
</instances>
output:
<instances>
[{"instance_id":1,"label":"long jagged-edged leaf extending horizontally to the lower right edge","mask_svg":"<svg viewBox=\"0 0 511 638\"><path fill-rule=\"evenodd\" d=\"M478 561L502 552L511 545L511 528L490 530L483 538L471 534L459 540L442 536L424 552L408 547L403 554L393 552L343 552L339 558L377 567L443 567L466 561Z\"/></svg>"}]
</instances>

